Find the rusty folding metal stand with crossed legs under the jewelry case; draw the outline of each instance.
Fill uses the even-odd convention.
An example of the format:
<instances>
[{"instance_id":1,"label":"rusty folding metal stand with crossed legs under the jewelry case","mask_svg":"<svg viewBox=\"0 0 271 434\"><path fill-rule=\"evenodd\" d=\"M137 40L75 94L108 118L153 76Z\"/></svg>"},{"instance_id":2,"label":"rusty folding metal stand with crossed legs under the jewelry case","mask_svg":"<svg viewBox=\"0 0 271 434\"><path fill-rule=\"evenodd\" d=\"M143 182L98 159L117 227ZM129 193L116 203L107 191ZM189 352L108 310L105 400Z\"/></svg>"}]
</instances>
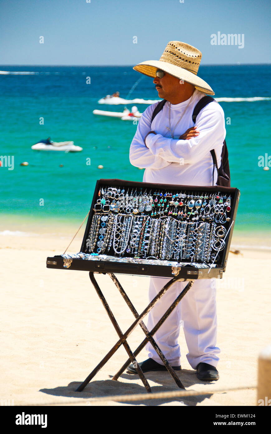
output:
<instances>
[{"instance_id":1,"label":"rusty folding metal stand with crossed legs under the jewelry case","mask_svg":"<svg viewBox=\"0 0 271 434\"><path fill-rule=\"evenodd\" d=\"M130 325L129 329L126 330L125 333L123 333L116 321L116 318L114 317L110 307L108 306L105 297L103 296L103 293L94 277L94 273L101 274L99 272L93 272L90 271L89 276L90 280L101 300L103 303L104 308L106 309L106 312L119 336L119 340L116 342L116 344L110 349L110 351L106 354L106 356L100 361L100 363L96 366L96 368L93 369L92 372L90 372L90 375L87 376L85 381L76 389L76 391L81 392L86 385L94 378L94 376L97 374L98 371L108 362L108 360L113 356L113 354L117 351L117 349L120 347L120 345L123 345L126 349L127 354L129 355L129 359L125 362L125 364L119 369L119 371L113 376L113 380L117 380L119 376L125 371L125 369L128 367L129 363L132 362L132 364L135 366L136 372L138 373L140 379L142 380L142 383L145 386L145 389L147 392L152 392L150 385L148 384L148 381L145 377L145 375L142 372L142 369L140 368L138 362L136 361L136 356L141 352L141 350L144 348L147 342L150 342L161 358L161 361L164 363L165 367L167 368L168 372L170 373L171 377L174 379L175 383L179 388L184 389L184 385L182 384L181 380L178 378L177 374L175 373L172 366L168 363L168 360L165 358L165 355L161 352L161 349L158 347L157 343L153 339L153 335L157 332L157 330L161 327L163 322L168 318L170 313L173 311L173 309L177 306L177 304L181 301L181 299L184 297L184 295L187 293L187 291L191 288L191 286L194 283L194 280L188 280L187 285L182 290L182 292L177 296L177 298L174 300L174 302L171 304L171 306L167 309L167 311L164 313L164 315L161 317L161 319L158 321L158 323L154 326L154 328L151 331L148 331L147 327L145 326L142 319L148 314L148 312L152 309L152 307L155 305L156 302L158 302L159 299L165 294L166 291L175 283L175 282L183 282L187 279L181 278L181 277L173 277L168 283L163 286L163 288L160 290L160 292L155 296L155 298L148 304L148 306L143 310L143 312L139 315L139 313L136 311L135 307L133 306L131 300L127 296L126 292L124 291L123 287L119 283L119 280L116 278L116 276L113 273L103 273L108 274L110 278L115 283L116 287L118 288L119 292L123 296L123 299L125 300L126 304L128 305L129 309L131 310L133 316L136 318L136 320ZM140 325L143 332L145 333L145 339L141 342L141 344L137 347L137 349L132 352L130 349L126 339L128 336L132 333L132 331L136 328L137 325Z\"/></svg>"}]
</instances>

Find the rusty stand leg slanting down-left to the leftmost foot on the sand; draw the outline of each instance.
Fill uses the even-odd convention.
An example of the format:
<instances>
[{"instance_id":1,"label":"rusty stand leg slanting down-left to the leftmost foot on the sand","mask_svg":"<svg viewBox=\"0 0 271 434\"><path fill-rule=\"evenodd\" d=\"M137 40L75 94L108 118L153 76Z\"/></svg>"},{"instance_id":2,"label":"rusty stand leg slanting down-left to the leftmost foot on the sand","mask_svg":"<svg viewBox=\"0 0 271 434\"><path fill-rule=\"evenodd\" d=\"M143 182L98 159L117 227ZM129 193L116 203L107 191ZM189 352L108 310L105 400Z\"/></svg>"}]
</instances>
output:
<instances>
[{"instance_id":1,"label":"rusty stand leg slanting down-left to the leftmost foot on the sand","mask_svg":"<svg viewBox=\"0 0 271 434\"><path fill-rule=\"evenodd\" d=\"M91 272L90 272L91 273ZM85 381L78 386L76 389L77 392L81 392L86 385L90 382L90 380L97 374L98 371L108 362L108 360L115 354L117 349L120 347L120 345L123 344L123 342L128 338L128 336L132 333L132 331L136 328L137 325L141 322L141 320L148 314L148 312L152 309L152 307L155 305L155 303L161 298L163 294L171 287L173 283L175 283L178 280L177 277L172 278L168 283L163 286L163 288L159 291L159 293L155 296L155 298L148 304L148 306L143 310L143 312L139 315L139 317L130 325L129 329L126 330L126 332L122 335L122 337L116 342L116 344L110 349L110 351L105 355L105 357L100 361L100 363L94 368L92 372L87 376ZM182 291L182 293L184 290ZM177 300L177 299L176 299ZM175 300L175 301L176 301ZM174 303L173 303L174 304ZM171 305L171 307L173 306ZM177 303L176 303L177 304ZM174 305L175 307L176 305ZM169 310L169 309L168 309ZM168 312L168 311L167 311ZM170 313L170 312L169 312ZM169 315L168 313L168 315ZM164 319L165 320L165 319ZM160 320L161 321L161 320ZM147 341L147 339L146 339ZM129 362L128 362L129 365ZM127 366L128 366L127 365ZM114 378L116 379L116 378Z\"/></svg>"}]
</instances>

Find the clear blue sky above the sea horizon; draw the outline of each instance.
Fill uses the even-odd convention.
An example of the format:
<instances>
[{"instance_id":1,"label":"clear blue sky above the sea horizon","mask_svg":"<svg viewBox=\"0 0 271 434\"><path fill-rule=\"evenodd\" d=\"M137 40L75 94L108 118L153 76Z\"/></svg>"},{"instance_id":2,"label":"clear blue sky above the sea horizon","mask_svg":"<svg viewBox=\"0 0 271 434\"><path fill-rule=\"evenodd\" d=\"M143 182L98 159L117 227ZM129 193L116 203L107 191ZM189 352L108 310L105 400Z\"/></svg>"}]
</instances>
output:
<instances>
[{"instance_id":1,"label":"clear blue sky above the sea horizon","mask_svg":"<svg viewBox=\"0 0 271 434\"><path fill-rule=\"evenodd\" d=\"M87 1L0 0L0 64L135 65L172 40L200 49L202 65L270 63L268 0ZM211 45L218 32L244 47Z\"/></svg>"}]
</instances>

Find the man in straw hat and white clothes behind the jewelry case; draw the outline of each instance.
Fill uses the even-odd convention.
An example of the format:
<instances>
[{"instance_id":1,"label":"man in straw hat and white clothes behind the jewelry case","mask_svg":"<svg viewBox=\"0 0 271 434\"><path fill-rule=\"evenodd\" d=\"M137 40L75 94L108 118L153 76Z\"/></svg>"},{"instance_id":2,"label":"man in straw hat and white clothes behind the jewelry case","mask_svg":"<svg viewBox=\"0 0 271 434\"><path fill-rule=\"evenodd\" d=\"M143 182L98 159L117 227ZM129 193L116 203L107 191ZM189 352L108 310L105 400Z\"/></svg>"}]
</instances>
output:
<instances>
[{"instance_id":1,"label":"man in straw hat and white clothes behind the jewelry case","mask_svg":"<svg viewBox=\"0 0 271 434\"><path fill-rule=\"evenodd\" d=\"M210 102L192 121L195 105L201 98L214 95L210 86L197 76L201 52L193 46L171 41L159 61L139 63L133 69L154 77L158 96L167 100L152 120L158 103L150 105L139 120L130 147L130 162L144 167L143 181L161 184L208 186L216 184L210 150L216 152L218 167L226 135L224 113L219 104ZM216 172L216 171L215 171ZM170 279L151 277L151 301ZM148 330L184 288L177 282L153 307L148 316ZM175 370L181 370L177 343L180 324L187 342L187 360L197 370L200 380L218 380L216 366L220 349L216 346L216 287L213 279L195 280L193 286L154 335L161 351ZM140 363L143 372L164 371L161 359L148 343L148 359ZM132 365L128 372L136 373Z\"/></svg>"}]
</instances>

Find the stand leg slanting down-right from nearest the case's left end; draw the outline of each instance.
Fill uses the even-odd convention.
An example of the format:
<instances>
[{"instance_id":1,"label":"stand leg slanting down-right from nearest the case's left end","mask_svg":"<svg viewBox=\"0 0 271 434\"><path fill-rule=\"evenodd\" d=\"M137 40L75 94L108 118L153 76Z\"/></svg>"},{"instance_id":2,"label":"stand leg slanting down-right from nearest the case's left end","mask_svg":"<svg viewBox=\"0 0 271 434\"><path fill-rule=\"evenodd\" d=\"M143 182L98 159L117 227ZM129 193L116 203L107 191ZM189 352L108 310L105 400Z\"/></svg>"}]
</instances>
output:
<instances>
[{"instance_id":1,"label":"stand leg slanting down-right from nearest the case's left end","mask_svg":"<svg viewBox=\"0 0 271 434\"><path fill-rule=\"evenodd\" d=\"M114 317L110 307L108 306L106 299L104 298L103 293L100 290L100 287L99 287L96 279L94 278L94 273L90 271L89 276L90 276L91 283L93 284L94 288L96 289L96 292L97 292L101 302L103 303L103 307L105 308L105 310L106 310L106 312L107 312L107 314L108 314L108 316L109 316L109 318L110 318L110 320L114 326L114 329L116 330L119 338L122 338L123 333L122 333L118 323L116 322L116 318ZM133 355L133 353L132 353L132 351L128 345L128 342L126 340L123 342L123 346L126 349L126 352L129 355L131 362L132 363L136 362L136 371L137 371L142 383L144 384L146 391L151 393L152 392L151 387L148 384L148 381L147 381L145 375L143 374L142 369L140 368L139 364L137 363L136 358Z\"/></svg>"}]
</instances>

